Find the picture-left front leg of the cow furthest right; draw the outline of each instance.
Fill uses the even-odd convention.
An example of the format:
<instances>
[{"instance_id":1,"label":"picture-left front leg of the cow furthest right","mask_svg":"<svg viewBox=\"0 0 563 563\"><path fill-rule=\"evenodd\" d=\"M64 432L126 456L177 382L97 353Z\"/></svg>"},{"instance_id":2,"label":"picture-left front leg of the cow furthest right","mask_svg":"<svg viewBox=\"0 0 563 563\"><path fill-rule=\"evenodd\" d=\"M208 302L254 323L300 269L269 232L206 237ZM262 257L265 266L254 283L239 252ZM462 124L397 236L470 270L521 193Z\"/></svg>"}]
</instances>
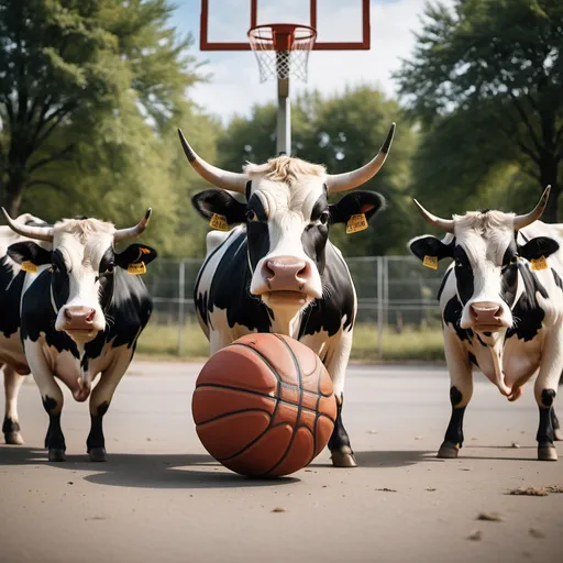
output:
<instances>
[{"instance_id":1,"label":"picture-left front leg of the cow furthest right","mask_svg":"<svg viewBox=\"0 0 563 563\"><path fill-rule=\"evenodd\" d=\"M452 415L437 457L455 459L463 446L463 416L473 395L473 374L468 354L450 328L444 330L444 353L450 372Z\"/></svg>"}]
</instances>

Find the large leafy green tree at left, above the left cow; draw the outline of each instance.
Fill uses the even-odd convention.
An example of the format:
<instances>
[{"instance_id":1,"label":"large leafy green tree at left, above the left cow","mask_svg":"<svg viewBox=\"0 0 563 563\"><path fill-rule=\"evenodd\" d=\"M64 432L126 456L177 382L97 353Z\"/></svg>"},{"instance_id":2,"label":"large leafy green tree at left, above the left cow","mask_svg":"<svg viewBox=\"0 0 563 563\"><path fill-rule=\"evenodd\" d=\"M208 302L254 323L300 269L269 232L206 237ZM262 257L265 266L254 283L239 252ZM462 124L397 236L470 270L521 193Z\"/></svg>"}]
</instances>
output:
<instances>
[{"instance_id":1,"label":"large leafy green tree at left, above the left cow","mask_svg":"<svg viewBox=\"0 0 563 563\"><path fill-rule=\"evenodd\" d=\"M49 220L123 224L152 205L159 242L181 228L170 120L196 119L184 98L201 77L191 38L166 26L172 10L167 0L0 0L0 188L12 216L23 200Z\"/></svg>"}]
</instances>

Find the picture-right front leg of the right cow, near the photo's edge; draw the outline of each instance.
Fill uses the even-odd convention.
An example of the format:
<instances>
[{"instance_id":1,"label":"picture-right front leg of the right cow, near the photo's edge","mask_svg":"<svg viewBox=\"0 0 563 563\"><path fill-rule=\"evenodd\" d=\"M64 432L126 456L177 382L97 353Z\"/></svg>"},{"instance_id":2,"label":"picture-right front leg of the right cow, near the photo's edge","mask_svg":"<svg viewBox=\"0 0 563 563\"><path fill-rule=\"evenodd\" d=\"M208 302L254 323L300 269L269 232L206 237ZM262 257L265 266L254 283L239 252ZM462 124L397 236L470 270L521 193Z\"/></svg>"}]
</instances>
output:
<instances>
[{"instance_id":1,"label":"picture-right front leg of the right cow, near the photo's edge","mask_svg":"<svg viewBox=\"0 0 563 563\"><path fill-rule=\"evenodd\" d=\"M555 440L554 422L558 421L553 410L553 400L563 368L562 342L563 329L561 325L553 327L552 331L545 335L540 372L533 386L533 394L540 411L540 423L536 435L538 460L540 461L558 460L558 451L553 443Z\"/></svg>"}]
</instances>

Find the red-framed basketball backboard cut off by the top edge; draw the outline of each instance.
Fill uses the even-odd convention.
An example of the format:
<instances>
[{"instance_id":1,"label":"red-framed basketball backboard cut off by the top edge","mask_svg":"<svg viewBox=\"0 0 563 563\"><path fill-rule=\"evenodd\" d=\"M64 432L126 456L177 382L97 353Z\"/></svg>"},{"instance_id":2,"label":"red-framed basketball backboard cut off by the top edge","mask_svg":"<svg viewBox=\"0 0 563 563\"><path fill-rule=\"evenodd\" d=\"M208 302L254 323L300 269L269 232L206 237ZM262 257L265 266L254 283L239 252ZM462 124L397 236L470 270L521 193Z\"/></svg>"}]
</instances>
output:
<instances>
[{"instance_id":1,"label":"red-framed basketball backboard cut off by the top edge","mask_svg":"<svg viewBox=\"0 0 563 563\"><path fill-rule=\"evenodd\" d=\"M250 51L249 30L266 23L314 27L314 51L371 46L369 0L201 0L200 49Z\"/></svg>"}]
</instances>

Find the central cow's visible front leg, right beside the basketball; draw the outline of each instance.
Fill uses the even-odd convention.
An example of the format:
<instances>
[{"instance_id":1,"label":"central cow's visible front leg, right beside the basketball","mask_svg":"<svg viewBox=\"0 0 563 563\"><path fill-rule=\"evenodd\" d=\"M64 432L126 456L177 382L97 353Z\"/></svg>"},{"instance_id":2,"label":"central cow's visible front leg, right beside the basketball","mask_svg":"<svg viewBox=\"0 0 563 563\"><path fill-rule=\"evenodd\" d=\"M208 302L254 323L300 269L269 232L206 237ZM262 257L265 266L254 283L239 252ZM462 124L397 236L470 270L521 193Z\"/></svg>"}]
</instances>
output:
<instances>
[{"instance_id":1,"label":"central cow's visible front leg, right beside the basketball","mask_svg":"<svg viewBox=\"0 0 563 563\"><path fill-rule=\"evenodd\" d=\"M331 345L331 350L324 358L324 366L332 379L334 396L336 397L336 420L334 430L329 440L329 450L331 452L332 465L334 467L355 467L357 465L350 444L344 423L342 422L342 406L344 402L344 379L346 376L346 366L352 350L352 331L341 333L338 342Z\"/></svg>"}]
</instances>

